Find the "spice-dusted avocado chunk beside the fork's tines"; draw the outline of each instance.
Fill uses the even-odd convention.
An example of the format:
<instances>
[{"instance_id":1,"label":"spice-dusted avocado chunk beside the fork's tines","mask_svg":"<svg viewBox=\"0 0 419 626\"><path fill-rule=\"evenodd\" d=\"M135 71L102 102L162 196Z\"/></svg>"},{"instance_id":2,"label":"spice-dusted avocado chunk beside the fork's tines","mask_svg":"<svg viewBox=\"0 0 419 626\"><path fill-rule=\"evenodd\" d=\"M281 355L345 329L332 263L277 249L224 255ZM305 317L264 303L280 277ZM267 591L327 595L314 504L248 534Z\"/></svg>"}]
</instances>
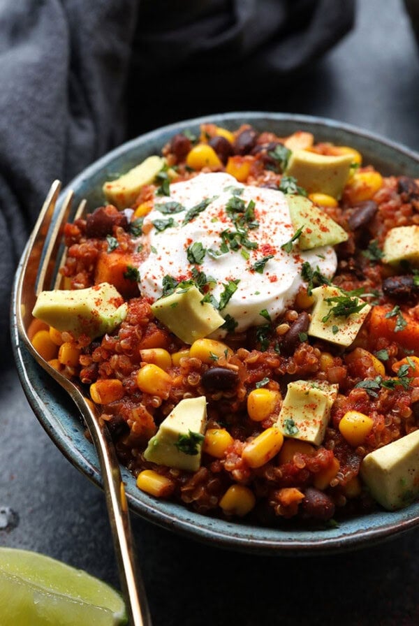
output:
<instances>
[{"instance_id":1,"label":"spice-dusted avocado chunk beside the fork's tines","mask_svg":"<svg viewBox=\"0 0 419 626\"><path fill-rule=\"evenodd\" d=\"M103 282L75 291L41 291L32 315L75 338L87 335L94 339L111 333L125 319L127 310L117 289Z\"/></svg>"}]
</instances>

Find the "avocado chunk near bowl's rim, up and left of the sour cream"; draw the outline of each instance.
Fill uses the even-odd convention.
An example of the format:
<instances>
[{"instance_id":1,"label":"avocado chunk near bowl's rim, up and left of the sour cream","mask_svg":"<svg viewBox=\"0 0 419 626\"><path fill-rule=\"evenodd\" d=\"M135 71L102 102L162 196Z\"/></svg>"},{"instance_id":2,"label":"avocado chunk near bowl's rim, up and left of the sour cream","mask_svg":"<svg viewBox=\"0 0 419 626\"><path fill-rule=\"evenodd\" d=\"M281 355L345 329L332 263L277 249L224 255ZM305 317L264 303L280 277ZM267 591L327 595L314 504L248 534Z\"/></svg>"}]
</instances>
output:
<instances>
[{"instance_id":1,"label":"avocado chunk near bowl's rim, up and left of the sour cream","mask_svg":"<svg viewBox=\"0 0 419 626\"><path fill-rule=\"evenodd\" d=\"M166 160L162 157L148 157L140 165L126 174L103 184L103 193L106 200L118 209L131 207L135 198L145 184L152 184L156 175L165 165Z\"/></svg>"}]
</instances>

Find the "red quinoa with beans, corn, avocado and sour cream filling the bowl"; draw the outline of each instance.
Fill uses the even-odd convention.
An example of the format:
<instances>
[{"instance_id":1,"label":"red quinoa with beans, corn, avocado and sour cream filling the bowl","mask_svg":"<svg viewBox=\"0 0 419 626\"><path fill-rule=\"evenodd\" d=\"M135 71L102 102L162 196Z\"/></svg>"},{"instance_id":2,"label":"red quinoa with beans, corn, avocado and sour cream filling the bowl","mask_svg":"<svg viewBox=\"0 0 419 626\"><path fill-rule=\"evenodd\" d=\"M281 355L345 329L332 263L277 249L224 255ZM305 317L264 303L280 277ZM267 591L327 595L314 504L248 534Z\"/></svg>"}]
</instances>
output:
<instances>
[{"instance_id":1,"label":"red quinoa with beans, corn, avocado and sour cream filling the bowl","mask_svg":"<svg viewBox=\"0 0 419 626\"><path fill-rule=\"evenodd\" d=\"M138 488L269 525L418 497L416 180L203 124L103 193L31 337Z\"/></svg>"}]
</instances>

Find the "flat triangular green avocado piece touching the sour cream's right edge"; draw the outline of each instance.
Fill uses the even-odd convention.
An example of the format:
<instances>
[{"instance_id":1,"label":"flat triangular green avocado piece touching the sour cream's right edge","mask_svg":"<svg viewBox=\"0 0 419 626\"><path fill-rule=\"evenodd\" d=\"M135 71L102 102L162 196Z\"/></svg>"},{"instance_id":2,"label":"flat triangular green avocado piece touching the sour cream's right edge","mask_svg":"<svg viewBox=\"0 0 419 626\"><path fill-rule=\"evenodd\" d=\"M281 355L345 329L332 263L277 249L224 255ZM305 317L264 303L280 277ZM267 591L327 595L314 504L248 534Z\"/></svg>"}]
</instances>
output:
<instances>
[{"instance_id":1,"label":"flat triangular green avocado piece touching the sour cream's right edge","mask_svg":"<svg viewBox=\"0 0 419 626\"><path fill-rule=\"evenodd\" d=\"M286 200L294 230L302 229L298 238L300 250L334 246L348 239L348 233L308 198L287 195Z\"/></svg>"}]
</instances>

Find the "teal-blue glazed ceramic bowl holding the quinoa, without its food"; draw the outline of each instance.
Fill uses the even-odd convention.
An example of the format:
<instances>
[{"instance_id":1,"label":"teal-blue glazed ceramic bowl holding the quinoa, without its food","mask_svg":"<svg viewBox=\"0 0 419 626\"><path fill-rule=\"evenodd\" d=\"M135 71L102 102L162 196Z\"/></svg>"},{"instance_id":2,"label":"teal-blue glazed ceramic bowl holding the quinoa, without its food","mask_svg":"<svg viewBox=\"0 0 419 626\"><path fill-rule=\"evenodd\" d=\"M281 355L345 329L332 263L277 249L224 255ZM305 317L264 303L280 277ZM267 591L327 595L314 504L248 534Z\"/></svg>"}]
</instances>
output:
<instances>
[{"instance_id":1,"label":"teal-blue glazed ceramic bowl holding the quinoa, without its food","mask_svg":"<svg viewBox=\"0 0 419 626\"><path fill-rule=\"evenodd\" d=\"M165 126L118 147L71 181L68 188L62 192L59 204L62 203L68 189L73 189L74 206L77 206L82 198L87 198L87 206L93 210L103 204L101 191L103 182L115 177L116 173L126 172L150 154L159 154L163 145L175 133L185 129L197 132L200 124L204 122L213 122L228 129L235 129L240 124L248 123L258 131L272 131L279 136L287 136L297 130L309 131L314 133L317 141L331 141L356 148L362 153L365 163L372 163L384 175L396 173L419 177L418 154L353 126L317 117L240 112L190 119ZM20 266L17 268L17 275L19 272ZM101 486L96 451L84 437L77 409L24 349L13 319L12 336L20 380L38 420L64 456L91 481ZM272 555L338 552L371 546L378 541L411 530L419 524L419 502L417 502L401 511L391 513L376 511L350 518L336 527L313 529L291 524L259 527L240 521L230 522L202 516L179 504L157 500L142 493L135 485L133 476L124 467L122 476L126 483L129 506L135 514L187 537L237 551Z\"/></svg>"}]
</instances>

